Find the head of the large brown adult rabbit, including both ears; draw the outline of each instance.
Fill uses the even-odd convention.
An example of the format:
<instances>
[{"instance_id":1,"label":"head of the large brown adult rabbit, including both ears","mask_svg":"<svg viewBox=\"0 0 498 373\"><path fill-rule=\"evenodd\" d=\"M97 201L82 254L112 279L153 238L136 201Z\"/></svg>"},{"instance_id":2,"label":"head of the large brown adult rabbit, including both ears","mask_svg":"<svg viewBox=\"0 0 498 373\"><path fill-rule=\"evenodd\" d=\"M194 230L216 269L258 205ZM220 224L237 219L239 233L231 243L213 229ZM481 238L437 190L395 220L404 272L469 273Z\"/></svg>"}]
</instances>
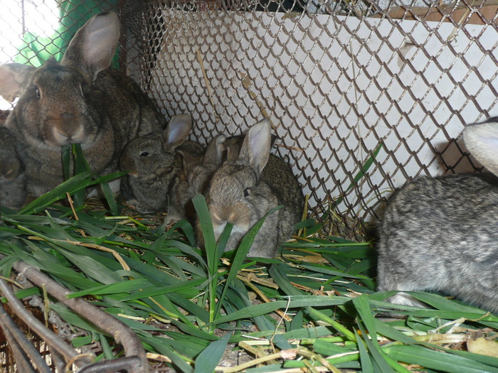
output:
<instances>
[{"instance_id":1,"label":"head of the large brown adult rabbit, including both ears","mask_svg":"<svg viewBox=\"0 0 498 373\"><path fill-rule=\"evenodd\" d=\"M30 142L58 148L95 141L100 119L85 97L98 73L110 66L119 37L117 15L101 14L75 34L61 63L50 59L38 68L1 67L0 92L5 90L2 95L10 101L19 97L14 117L21 114L20 120L29 124L25 134Z\"/></svg>"}]
</instances>

